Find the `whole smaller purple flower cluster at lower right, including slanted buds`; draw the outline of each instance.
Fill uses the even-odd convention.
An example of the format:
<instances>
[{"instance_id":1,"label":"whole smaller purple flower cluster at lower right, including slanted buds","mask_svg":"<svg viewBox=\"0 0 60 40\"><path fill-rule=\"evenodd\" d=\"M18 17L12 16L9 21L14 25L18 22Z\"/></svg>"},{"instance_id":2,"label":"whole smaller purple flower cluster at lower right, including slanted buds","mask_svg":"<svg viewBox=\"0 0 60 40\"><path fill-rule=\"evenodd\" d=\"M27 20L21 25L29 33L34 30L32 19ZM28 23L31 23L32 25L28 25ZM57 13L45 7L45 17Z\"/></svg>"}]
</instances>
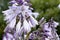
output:
<instances>
[{"instance_id":1,"label":"whole smaller purple flower cluster at lower right, including slanted buds","mask_svg":"<svg viewBox=\"0 0 60 40\"><path fill-rule=\"evenodd\" d=\"M44 17L39 21L40 27L36 31L33 31L29 35L31 40L59 40L59 36L56 33L56 27L59 25L58 22L55 22L53 19L50 19L49 22L46 22Z\"/></svg>"}]
</instances>

